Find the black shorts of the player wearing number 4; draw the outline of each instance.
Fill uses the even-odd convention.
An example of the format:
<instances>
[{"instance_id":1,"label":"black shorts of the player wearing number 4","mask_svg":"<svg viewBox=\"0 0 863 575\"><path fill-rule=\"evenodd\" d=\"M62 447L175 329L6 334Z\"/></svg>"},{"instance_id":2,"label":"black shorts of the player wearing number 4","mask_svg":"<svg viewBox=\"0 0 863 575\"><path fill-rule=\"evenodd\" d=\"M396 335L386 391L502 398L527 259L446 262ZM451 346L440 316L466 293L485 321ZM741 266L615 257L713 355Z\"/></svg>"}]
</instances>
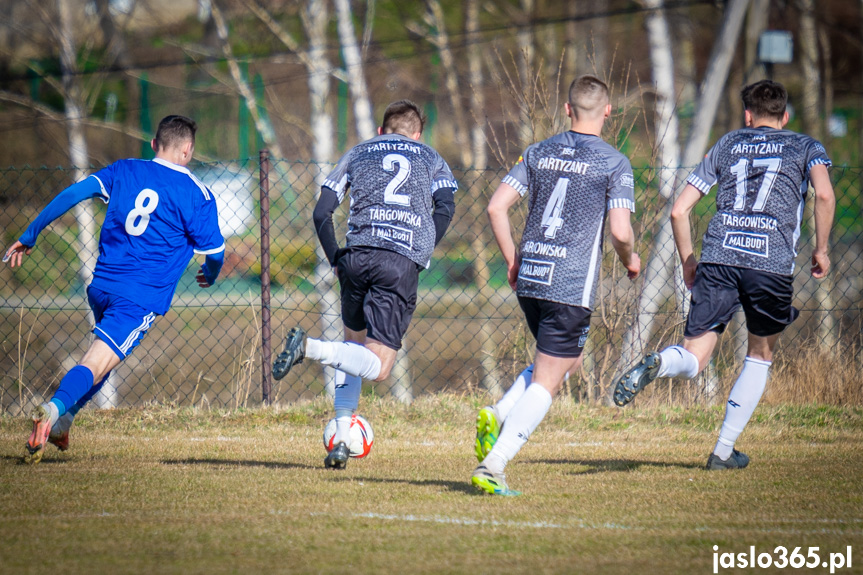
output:
<instances>
[{"instance_id":1,"label":"black shorts of the player wearing number 4","mask_svg":"<svg viewBox=\"0 0 863 575\"><path fill-rule=\"evenodd\" d=\"M590 331L590 310L554 301L518 296L536 349L553 357L579 357Z\"/></svg>"}]
</instances>

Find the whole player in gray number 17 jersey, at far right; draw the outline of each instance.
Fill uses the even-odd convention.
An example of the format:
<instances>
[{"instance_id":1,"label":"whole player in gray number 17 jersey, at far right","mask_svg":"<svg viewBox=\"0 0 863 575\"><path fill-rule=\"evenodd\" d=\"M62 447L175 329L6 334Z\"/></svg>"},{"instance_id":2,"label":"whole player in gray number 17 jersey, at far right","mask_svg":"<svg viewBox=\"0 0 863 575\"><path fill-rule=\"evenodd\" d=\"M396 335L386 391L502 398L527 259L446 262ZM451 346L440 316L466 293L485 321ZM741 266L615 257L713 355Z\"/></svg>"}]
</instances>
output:
<instances>
[{"instance_id":1,"label":"whole player in gray number 17 jersey, at far right","mask_svg":"<svg viewBox=\"0 0 863 575\"><path fill-rule=\"evenodd\" d=\"M692 289L683 345L648 354L618 379L614 390L615 403L625 405L656 377L695 377L742 305L749 346L707 469L749 464L734 444L764 393L779 334L798 315L791 305L791 274L810 182L815 189L811 273L816 279L830 268L827 245L836 206L824 147L783 129L788 122L785 88L762 80L746 86L741 95L746 127L713 146L687 179L671 213L683 279ZM689 215L714 184L716 214L704 234L699 263Z\"/></svg>"}]
</instances>

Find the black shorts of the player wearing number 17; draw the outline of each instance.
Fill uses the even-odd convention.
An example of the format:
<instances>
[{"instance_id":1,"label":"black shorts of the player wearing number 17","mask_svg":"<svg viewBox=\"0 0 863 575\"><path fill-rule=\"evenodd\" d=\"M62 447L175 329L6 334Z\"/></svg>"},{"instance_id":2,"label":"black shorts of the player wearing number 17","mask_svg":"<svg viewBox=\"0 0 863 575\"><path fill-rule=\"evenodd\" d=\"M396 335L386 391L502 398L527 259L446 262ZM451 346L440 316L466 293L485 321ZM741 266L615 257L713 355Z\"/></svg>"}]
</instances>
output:
<instances>
[{"instance_id":1,"label":"black shorts of the player wearing number 17","mask_svg":"<svg viewBox=\"0 0 863 575\"><path fill-rule=\"evenodd\" d=\"M735 266L701 263L695 270L686 337L722 333L741 305L746 329L767 337L780 333L800 312L791 305L793 278Z\"/></svg>"}]
</instances>

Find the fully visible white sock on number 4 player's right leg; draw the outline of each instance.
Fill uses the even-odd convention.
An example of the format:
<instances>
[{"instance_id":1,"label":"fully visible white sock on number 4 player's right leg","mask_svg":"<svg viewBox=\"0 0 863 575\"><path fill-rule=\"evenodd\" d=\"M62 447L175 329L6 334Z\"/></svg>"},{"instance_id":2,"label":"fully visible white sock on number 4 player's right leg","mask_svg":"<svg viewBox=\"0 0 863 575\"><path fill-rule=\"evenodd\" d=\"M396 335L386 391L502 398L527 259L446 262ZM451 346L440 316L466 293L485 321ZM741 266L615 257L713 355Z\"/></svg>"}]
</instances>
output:
<instances>
[{"instance_id":1,"label":"fully visible white sock on number 4 player's right leg","mask_svg":"<svg viewBox=\"0 0 863 575\"><path fill-rule=\"evenodd\" d=\"M483 465L492 473L503 473L506 464L527 443L550 407L551 394L548 390L541 385L529 385L513 406L497 443L483 460Z\"/></svg>"}]
</instances>

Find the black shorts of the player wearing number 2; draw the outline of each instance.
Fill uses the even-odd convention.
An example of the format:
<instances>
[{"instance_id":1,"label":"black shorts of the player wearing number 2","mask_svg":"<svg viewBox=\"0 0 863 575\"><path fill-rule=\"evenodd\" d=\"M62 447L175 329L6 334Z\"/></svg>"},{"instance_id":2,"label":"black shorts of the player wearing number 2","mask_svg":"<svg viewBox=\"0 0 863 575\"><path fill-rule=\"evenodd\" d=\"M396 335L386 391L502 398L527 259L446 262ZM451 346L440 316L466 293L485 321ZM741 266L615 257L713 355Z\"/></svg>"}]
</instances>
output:
<instances>
[{"instance_id":1,"label":"black shorts of the player wearing number 2","mask_svg":"<svg viewBox=\"0 0 863 575\"><path fill-rule=\"evenodd\" d=\"M401 349L417 306L417 264L389 250L357 247L345 250L336 268L345 327L367 329L367 337Z\"/></svg>"}]
</instances>

